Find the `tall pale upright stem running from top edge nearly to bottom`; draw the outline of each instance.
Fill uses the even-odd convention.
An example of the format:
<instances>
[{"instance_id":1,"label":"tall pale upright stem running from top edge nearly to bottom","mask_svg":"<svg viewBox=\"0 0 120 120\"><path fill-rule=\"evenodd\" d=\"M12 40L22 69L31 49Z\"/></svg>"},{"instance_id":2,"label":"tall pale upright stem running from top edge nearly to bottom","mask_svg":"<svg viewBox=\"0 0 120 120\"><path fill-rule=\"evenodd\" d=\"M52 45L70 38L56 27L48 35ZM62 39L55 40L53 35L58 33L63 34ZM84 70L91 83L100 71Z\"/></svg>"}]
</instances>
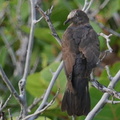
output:
<instances>
[{"instance_id":1,"label":"tall pale upright stem running from top edge nearly to bottom","mask_svg":"<svg viewBox=\"0 0 120 120\"><path fill-rule=\"evenodd\" d=\"M30 57L32 53L32 47L33 47L33 36L34 36L34 27L35 27L35 20L36 20L36 13L35 13L35 1L30 0L31 4L31 28L30 28L30 34L29 34L29 42L28 42L28 48L27 48L27 55L26 55L26 61L25 61L25 68L22 79L19 81L19 91L20 96L23 100L23 105L21 106L21 114L20 119L24 118L27 114L27 103L26 103L26 80L29 73L29 67L30 67Z\"/></svg>"}]
</instances>

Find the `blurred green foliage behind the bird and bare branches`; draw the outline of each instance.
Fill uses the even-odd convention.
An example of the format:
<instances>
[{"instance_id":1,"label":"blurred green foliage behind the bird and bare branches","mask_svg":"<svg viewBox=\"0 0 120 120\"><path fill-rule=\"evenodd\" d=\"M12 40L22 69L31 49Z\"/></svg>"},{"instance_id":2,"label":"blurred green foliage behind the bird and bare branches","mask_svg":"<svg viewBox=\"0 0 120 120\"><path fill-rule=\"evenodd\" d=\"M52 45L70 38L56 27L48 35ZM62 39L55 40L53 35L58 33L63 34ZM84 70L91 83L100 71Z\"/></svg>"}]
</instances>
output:
<instances>
[{"instance_id":1,"label":"blurred green foliage behind the bird and bare branches","mask_svg":"<svg viewBox=\"0 0 120 120\"><path fill-rule=\"evenodd\" d=\"M44 11L54 5L51 21L61 38L67 27L63 25L63 23L68 13L76 8L82 9L84 5L84 0L42 0L39 2ZM100 83L108 85L108 75L104 70L104 66L110 66L112 76L120 69L120 1L110 0L103 9L99 10L98 8L103 2L104 0L95 0L90 8L89 16L91 18L91 25L97 33L103 32L105 34L110 34L112 32L113 34L113 36L110 37L110 45L114 51L107 55L102 61L101 67L96 68L95 71L95 76ZM95 14L97 10L98 13ZM95 15L92 16L92 13ZM22 77L25 64L31 23L30 17L29 1L0 0L0 64L16 90L18 90L18 82ZM37 17L40 17L39 13ZM101 28L101 25L98 23L102 23L105 28ZM102 37L99 37L99 39L101 52L103 52L107 49L106 43ZM51 35L51 31L43 19L35 26L30 72L26 84L28 106L32 104L34 98L40 98L45 93L52 78L51 71L54 72L60 64L61 57L59 56L61 56L61 47ZM55 103L44 111L37 120L44 120L44 117L46 117L47 120L70 119L66 113L60 110L61 99L66 86L65 84L66 78L64 71L62 71L49 97L50 101L58 88L60 88L60 93ZM119 84L120 82L118 82L115 88L117 91L120 91ZM102 92L90 87L92 108L99 101L102 94ZM4 102L9 95L10 91L0 78L0 100ZM32 109L31 113L34 112L38 105ZM10 99L6 108L3 110L6 117L8 117L8 108L11 110L13 118L16 119L19 115L20 107L14 97ZM95 117L95 120L119 120L119 109L120 104L107 104ZM84 118L85 117L80 117L79 120L83 120Z\"/></svg>"}]
</instances>

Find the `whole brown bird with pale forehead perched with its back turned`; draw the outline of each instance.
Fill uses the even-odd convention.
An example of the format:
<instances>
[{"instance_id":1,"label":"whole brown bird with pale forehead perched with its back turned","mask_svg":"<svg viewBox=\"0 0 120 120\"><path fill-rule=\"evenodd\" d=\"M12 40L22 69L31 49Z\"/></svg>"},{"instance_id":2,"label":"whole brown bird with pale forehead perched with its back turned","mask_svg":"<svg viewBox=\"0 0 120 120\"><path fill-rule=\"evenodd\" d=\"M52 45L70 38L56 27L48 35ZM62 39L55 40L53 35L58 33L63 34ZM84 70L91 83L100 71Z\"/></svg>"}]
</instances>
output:
<instances>
[{"instance_id":1,"label":"whole brown bird with pale forehead perched with its back turned","mask_svg":"<svg viewBox=\"0 0 120 120\"><path fill-rule=\"evenodd\" d=\"M67 77L67 89L62 100L62 111L68 115L87 115L90 111L88 81L99 60L99 40L89 24L89 18L77 9L70 12L62 40L62 55Z\"/></svg>"}]
</instances>

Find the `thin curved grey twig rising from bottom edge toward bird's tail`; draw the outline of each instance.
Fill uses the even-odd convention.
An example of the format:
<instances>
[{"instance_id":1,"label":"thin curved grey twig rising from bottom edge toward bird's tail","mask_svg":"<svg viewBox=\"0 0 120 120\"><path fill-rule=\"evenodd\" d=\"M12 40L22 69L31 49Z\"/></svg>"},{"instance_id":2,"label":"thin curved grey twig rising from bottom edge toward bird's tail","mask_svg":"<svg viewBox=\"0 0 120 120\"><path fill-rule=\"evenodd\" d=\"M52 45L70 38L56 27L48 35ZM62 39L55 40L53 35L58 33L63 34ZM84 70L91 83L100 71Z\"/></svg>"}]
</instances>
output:
<instances>
[{"instance_id":1,"label":"thin curved grey twig rising from bottom edge toward bird's tail","mask_svg":"<svg viewBox=\"0 0 120 120\"><path fill-rule=\"evenodd\" d=\"M58 94L59 94L59 90L56 92L56 94L55 94L55 96L53 97L53 99L52 99L43 109L41 109L40 111L35 112L34 114L28 115L27 117L25 117L25 118L22 119L22 120L26 120L26 119L28 119L28 118L30 118L30 117L34 117L34 116L36 116L36 115L44 112L48 107L50 107L50 106L54 103L54 101L55 101L55 99L56 99L56 97L57 97Z\"/></svg>"}]
</instances>

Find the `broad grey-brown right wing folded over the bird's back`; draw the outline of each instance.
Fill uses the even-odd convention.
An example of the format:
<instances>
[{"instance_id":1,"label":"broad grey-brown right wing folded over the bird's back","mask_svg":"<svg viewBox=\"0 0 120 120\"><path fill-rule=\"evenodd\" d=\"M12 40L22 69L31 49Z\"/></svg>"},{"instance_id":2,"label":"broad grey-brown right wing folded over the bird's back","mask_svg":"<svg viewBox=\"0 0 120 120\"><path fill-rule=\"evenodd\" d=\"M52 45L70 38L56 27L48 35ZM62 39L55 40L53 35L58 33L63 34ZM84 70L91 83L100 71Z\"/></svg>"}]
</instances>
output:
<instances>
[{"instance_id":1,"label":"broad grey-brown right wing folded over the bird's back","mask_svg":"<svg viewBox=\"0 0 120 120\"><path fill-rule=\"evenodd\" d=\"M99 60L99 40L97 33L90 25L84 25L74 32L73 38L79 44L79 51L85 56L87 63L93 68Z\"/></svg>"}]
</instances>

